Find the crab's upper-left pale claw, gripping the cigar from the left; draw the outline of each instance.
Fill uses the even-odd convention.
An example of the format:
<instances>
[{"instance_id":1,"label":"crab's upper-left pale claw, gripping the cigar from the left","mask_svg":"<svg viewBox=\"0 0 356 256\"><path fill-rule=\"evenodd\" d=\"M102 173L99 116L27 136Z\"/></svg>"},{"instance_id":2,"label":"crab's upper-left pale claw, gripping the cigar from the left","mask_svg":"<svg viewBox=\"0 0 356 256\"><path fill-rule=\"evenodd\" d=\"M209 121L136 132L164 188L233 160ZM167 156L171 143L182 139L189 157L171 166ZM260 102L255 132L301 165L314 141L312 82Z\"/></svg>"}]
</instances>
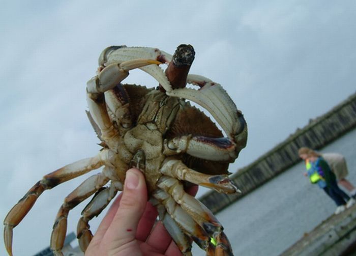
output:
<instances>
[{"instance_id":1,"label":"crab's upper-left pale claw, gripping the cigar from the left","mask_svg":"<svg viewBox=\"0 0 356 256\"><path fill-rule=\"evenodd\" d=\"M99 66L107 67L113 63L120 64L135 59L151 59L161 63L169 63L172 59L172 55L161 51L160 49L151 47L126 47L125 45L110 46L104 49L100 54ZM161 84L164 90L167 92L172 91L172 87L162 68L151 65L140 67L140 69L152 75Z\"/></svg>"}]
</instances>

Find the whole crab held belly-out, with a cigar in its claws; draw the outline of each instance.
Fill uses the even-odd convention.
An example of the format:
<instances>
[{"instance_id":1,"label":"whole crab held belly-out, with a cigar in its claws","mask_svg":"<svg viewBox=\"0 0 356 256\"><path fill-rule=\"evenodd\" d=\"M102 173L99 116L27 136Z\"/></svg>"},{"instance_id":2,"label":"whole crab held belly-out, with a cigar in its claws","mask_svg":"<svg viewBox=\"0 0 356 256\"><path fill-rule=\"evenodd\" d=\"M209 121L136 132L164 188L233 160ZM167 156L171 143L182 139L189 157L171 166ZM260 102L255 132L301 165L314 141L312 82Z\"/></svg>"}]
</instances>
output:
<instances>
[{"instance_id":1,"label":"whole crab held belly-out, with a cigar in its claws","mask_svg":"<svg viewBox=\"0 0 356 256\"><path fill-rule=\"evenodd\" d=\"M122 190L131 167L144 174L159 221L184 255L191 255L192 241L207 255L232 255L222 225L207 207L185 192L185 187L196 184L223 193L239 192L227 169L246 146L247 125L220 84L188 74L194 57L191 45L180 45L173 56L150 47L122 45L103 50L97 75L86 86L87 116L102 149L94 157L45 175L10 210L4 221L4 241L10 255L13 228L44 190L99 167L103 167L100 173L87 178L65 197L50 240L55 255L62 255L69 211L94 195L77 226L79 245L85 251L93 237L89 221ZM168 65L165 72L162 64ZM159 87L122 84L129 71L137 68L152 75ZM199 89L187 88L187 83ZM205 108L225 137L188 100Z\"/></svg>"}]
</instances>

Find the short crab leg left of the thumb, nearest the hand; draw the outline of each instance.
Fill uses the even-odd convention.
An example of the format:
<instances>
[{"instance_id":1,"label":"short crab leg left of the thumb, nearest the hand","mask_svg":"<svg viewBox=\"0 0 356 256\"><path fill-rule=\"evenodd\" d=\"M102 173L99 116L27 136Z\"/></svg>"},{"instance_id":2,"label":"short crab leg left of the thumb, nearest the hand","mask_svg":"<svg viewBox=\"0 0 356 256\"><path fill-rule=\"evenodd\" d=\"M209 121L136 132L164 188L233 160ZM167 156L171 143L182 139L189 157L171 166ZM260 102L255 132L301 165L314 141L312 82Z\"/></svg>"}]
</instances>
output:
<instances>
[{"instance_id":1,"label":"short crab leg left of the thumb, nearest the hand","mask_svg":"<svg viewBox=\"0 0 356 256\"><path fill-rule=\"evenodd\" d=\"M80 249L83 252L85 252L93 238L88 222L95 216L98 216L102 210L105 209L118 190L122 190L122 184L120 182L111 182L109 187L99 189L91 202L89 202L81 212L82 216L77 225L77 238Z\"/></svg>"}]
</instances>

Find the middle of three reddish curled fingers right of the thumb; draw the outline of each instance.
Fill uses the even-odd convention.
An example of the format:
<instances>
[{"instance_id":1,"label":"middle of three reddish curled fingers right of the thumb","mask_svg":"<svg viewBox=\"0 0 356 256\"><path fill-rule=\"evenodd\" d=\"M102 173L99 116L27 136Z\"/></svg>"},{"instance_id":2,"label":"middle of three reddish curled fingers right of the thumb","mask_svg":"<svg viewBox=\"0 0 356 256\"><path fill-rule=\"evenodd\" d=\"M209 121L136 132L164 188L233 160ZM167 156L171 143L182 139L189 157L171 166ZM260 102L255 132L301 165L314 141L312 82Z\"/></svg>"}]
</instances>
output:
<instances>
[{"instance_id":1,"label":"middle of three reddish curled fingers right of the thumb","mask_svg":"<svg viewBox=\"0 0 356 256\"><path fill-rule=\"evenodd\" d=\"M159 221L152 230L150 237L147 239L147 244L164 253L167 250L171 241L172 238L163 226L162 222Z\"/></svg>"}]
</instances>

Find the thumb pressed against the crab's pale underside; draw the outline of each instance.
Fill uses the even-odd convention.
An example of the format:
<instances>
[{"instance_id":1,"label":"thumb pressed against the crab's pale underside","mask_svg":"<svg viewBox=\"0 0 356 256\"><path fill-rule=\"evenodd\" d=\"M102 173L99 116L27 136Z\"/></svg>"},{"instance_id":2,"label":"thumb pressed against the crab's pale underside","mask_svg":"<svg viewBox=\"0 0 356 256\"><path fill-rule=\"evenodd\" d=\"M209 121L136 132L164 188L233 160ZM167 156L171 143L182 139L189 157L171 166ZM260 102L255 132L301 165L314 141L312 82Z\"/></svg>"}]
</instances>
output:
<instances>
[{"instance_id":1,"label":"thumb pressed against the crab's pale underside","mask_svg":"<svg viewBox=\"0 0 356 256\"><path fill-rule=\"evenodd\" d=\"M145 179L138 169L126 172L125 186L120 206L105 234L109 250L117 250L135 240L138 222L147 202Z\"/></svg>"}]
</instances>

